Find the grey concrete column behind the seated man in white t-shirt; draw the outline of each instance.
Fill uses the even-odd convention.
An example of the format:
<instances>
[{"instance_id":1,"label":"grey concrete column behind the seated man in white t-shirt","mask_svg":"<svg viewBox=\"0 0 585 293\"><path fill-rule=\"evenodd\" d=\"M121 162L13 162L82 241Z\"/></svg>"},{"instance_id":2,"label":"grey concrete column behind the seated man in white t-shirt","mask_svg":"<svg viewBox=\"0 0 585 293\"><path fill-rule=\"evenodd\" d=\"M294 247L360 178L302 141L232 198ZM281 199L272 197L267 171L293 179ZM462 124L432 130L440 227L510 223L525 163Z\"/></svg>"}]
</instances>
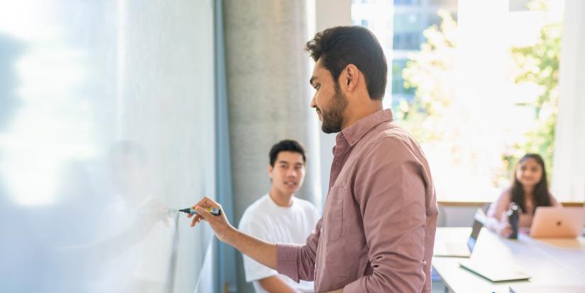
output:
<instances>
[{"instance_id":1,"label":"grey concrete column behind the seated man in white t-shirt","mask_svg":"<svg viewBox=\"0 0 585 293\"><path fill-rule=\"evenodd\" d=\"M313 70L303 46L307 0L225 0L225 55L235 225L253 201L269 191L268 153L291 138L306 147L307 173L297 195L320 201L318 121L310 108ZM238 292L245 284L238 258Z\"/></svg>"}]
</instances>

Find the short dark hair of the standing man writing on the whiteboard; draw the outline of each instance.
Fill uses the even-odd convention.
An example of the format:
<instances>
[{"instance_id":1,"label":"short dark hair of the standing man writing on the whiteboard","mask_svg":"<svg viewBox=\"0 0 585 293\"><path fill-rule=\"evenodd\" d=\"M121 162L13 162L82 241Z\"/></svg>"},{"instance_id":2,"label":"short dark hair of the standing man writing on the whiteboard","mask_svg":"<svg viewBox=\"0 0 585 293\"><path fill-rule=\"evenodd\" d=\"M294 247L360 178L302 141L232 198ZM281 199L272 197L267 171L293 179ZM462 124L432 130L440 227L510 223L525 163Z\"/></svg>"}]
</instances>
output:
<instances>
[{"instance_id":1,"label":"short dark hair of the standing man writing on the whiteboard","mask_svg":"<svg viewBox=\"0 0 585 293\"><path fill-rule=\"evenodd\" d=\"M323 67L331 72L335 84L347 65L353 64L364 74L372 99L382 99L386 92L388 65L376 36L361 26L335 26L316 33L305 50L313 60L321 57Z\"/></svg>"}]
</instances>

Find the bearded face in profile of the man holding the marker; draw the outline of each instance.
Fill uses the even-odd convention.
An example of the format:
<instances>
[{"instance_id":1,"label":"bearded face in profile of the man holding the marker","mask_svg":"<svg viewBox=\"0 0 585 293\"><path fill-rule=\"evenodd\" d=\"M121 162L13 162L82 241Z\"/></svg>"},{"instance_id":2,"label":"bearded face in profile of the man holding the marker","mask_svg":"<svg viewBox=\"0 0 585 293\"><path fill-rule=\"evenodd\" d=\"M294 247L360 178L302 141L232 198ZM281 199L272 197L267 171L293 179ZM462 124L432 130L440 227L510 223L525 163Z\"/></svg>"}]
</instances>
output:
<instances>
[{"instance_id":1,"label":"bearded face in profile of the man holding the marker","mask_svg":"<svg viewBox=\"0 0 585 293\"><path fill-rule=\"evenodd\" d=\"M321 64L321 58L315 64L310 83L316 91L311 100L311 108L317 111L319 121L321 121L321 130L324 133L340 132L343 111L347 107L347 98L341 93L341 89L333 80L331 72Z\"/></svg>"}]
</instances>

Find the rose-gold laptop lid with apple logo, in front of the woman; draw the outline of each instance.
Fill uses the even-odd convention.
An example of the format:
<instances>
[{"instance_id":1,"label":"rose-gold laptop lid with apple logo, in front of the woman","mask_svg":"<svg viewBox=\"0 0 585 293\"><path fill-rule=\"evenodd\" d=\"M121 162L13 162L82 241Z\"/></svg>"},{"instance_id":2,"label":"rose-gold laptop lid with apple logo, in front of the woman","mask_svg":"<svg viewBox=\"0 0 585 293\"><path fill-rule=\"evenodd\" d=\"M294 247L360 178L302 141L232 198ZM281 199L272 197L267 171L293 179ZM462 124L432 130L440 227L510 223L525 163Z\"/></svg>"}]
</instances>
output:
<instances>
[{"instance_id":1,"label":"rose-gold laptop lid with apple logo, in front of the woman","mask_svg":"<svg viewBox=\"0 0 585 293\"><path fill-rule=\"evenodd\" d=\"M584 208L538 206L530 226L530 237L574 238L584 226Z\"/></svg>"}]
</instances>

